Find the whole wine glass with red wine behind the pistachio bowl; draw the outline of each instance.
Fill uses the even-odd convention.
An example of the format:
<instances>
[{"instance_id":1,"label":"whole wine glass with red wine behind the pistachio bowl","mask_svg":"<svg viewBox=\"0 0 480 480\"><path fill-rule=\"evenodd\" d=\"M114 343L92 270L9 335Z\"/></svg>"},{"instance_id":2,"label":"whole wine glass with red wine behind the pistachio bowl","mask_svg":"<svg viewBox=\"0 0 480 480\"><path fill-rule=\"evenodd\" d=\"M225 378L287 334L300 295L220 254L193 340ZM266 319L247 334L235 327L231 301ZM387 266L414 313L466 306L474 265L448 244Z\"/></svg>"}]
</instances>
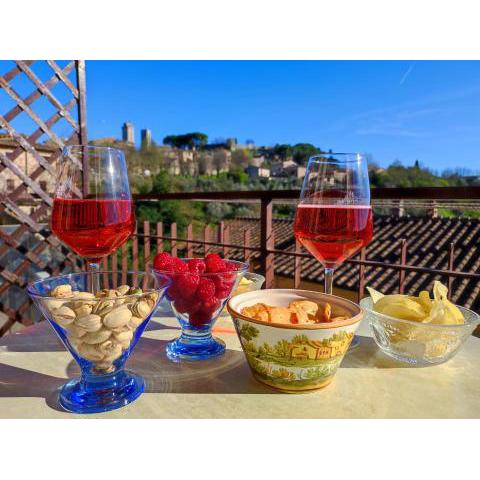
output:
<instances>
[{"instance_id":1,"label":"whole wine glass with red wine behind the pistachio bowl","mask_svg":"<svg viewBox=\"0 0 480 480\"><path fill-rule=\"evenodd\" d=\"M135 213L122 150L64 148L51 229L96 271L103 257L127 241L135 229Z\"/></svg>"}]
</instances>

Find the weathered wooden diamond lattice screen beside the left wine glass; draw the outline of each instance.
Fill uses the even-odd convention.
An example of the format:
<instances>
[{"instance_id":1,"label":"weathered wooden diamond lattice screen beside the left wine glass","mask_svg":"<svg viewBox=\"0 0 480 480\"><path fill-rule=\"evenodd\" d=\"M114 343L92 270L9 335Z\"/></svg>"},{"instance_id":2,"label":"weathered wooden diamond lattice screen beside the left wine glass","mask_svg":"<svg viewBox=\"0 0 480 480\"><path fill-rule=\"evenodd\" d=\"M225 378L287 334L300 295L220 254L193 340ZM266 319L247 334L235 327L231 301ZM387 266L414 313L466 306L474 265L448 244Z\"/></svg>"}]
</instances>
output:
<instances>
[{"instance_id":1,"label":"weathered wooden diamond lattice screen beside the left wine glass","mask_svg":"<svg viewBox=\"0 0 480 480\"><path fill-rule=\"evenodd\" d=\"M63 147L87 142L85 98L83 61L17 60L0 76L0 216L10 224L0 225L0 312L8 317L3 325L0 319L0 336L16 322L32 323L29 281L80 266L50 232L48 218Z\"/></svg>"}]
</instances>

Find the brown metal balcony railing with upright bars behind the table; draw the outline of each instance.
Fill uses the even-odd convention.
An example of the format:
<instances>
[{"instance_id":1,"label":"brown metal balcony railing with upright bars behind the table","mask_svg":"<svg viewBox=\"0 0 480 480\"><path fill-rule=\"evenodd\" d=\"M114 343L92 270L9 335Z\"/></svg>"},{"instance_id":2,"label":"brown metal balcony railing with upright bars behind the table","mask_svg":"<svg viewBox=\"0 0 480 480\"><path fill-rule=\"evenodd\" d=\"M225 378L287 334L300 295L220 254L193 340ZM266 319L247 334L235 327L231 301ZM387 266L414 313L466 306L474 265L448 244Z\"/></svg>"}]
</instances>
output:
<instances>
[{"instance_id":1,"label":"brown metal balcony railing with upright bars behind the table","mask_svg":"<svg viewBox=\"0 0 480 480\"><path fill-rule=\"evenodd\" d=\"M170 225L170 235L164 235L164 225L157 223L156 231L152 232L148 222L142 225L141 233L137 232L132 242L132 266L138 268L139 262L139 242L143 245L143 263L147 264L151 257L152 241L156 242L157 250L163 249L163 242L170 242L170 248L173 255L178 253L179 244L185 247L186 256L193 256L194 246L203 246L203 252L208 252L209 248L220 247L224 255L228 255L229 250L236 249L243 251L243 258L248 260L252 253L259 253L259 270L265 275L265 287L271 288L274 285L274 265L277 256L289 256L294 258L294 286L300 285L302 278L302 259L310 258L308 253L302 252L298 242L295 244L294 251L286 251L275 248L273 236L273 204L274 202L292 202L297 201L299 197L298 190L265 190L265 191L235 191L235 192L180 192L166 194L148 194L135 195L136 202L158 202L163 200L184 200L184 201L222 201L222 202L248 202L260 204L260 244L252 246L250 242L250 232L244 232L243 242L241 244L231 243L230 229L228 225L221 222L217 228L217 238L213 240L210 235L210 229L206 227L203 231L203 238L194 238L193 227L188 225L186 235L179 237L177 235L176 224ZM442 188L376 188L372 189L372 203L374 206L417 207L417 208L438 208L448 206L450 208L480 208L480 187L442 187ZM435 269L416 266L407 263L408 243L406 239L401 239L398 244L399 262L385 263L366 258L366 250L360 252L359 258L347 260L352 265L359 267L358 276L358 297L364 295L365 290L365 268L392 269L398 273L398 291L404 292L405 276L408 272L439 274L445 277L449 286L453 279L475 279L480 280L480 273L471 271L462 271L454 269L455 253L454 244L448 247L448 268ZM116 268L116 256L114 256L112 267ZM127 250L122 250L122 267L127 266Z\"/></svg>"}]
</instances>

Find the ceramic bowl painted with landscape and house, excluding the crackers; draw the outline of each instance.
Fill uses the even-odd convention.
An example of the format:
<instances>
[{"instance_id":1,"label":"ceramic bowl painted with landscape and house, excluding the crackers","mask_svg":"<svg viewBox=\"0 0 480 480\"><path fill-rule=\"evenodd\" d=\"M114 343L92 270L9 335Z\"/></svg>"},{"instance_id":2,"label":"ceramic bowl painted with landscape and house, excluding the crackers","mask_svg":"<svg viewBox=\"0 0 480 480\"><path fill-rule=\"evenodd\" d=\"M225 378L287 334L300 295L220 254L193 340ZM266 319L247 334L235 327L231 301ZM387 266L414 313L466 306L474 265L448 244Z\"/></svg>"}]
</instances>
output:
<instances>
[{"instance_id":1,"label":"ceramic bowl painted with landscape and house, excluding the crackers","mask_svg":"<svg viewBox=\"0 0 480 480\"><path fill-rule=\"evenodd\" d=\"M242 315L256 303L287 307L293 300L329 303L335 323L279 325ZM335 376L363 318L358 305L344 298L308 290L258 290L232 297L227 303L254 377L279 390L297 392L327 386Z\"/></svg>"}]
</instances>

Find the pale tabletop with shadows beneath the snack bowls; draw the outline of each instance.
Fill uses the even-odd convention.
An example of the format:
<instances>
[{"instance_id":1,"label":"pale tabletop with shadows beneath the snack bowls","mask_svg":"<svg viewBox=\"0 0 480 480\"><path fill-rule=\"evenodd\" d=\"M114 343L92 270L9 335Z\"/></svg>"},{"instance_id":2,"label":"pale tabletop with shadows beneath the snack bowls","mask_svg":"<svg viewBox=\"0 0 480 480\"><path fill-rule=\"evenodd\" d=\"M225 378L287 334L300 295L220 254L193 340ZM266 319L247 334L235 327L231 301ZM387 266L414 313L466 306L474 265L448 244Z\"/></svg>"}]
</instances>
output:
<instances>
[{"instance_id":1,"label":"pale tabletop with shadows beneath the snack bowls","mask_svg":"<svg viewBox=\"0 0 480 480\"><path fill-rule=\"evenodd\" d=\"M135 402L107 413L62 411L57 392L79 368L47 322L0 342L1 418L478 418L480 339L471 337L449 362L414 367L379 351L369 326L344 358L331 385L310 393L277 392L251 375L231 319L221 317L215 335L224 356L173 363L167 341L179 335L168 309L158 311L127 368L146 380Z\"/></svg>"}]
</instances>

